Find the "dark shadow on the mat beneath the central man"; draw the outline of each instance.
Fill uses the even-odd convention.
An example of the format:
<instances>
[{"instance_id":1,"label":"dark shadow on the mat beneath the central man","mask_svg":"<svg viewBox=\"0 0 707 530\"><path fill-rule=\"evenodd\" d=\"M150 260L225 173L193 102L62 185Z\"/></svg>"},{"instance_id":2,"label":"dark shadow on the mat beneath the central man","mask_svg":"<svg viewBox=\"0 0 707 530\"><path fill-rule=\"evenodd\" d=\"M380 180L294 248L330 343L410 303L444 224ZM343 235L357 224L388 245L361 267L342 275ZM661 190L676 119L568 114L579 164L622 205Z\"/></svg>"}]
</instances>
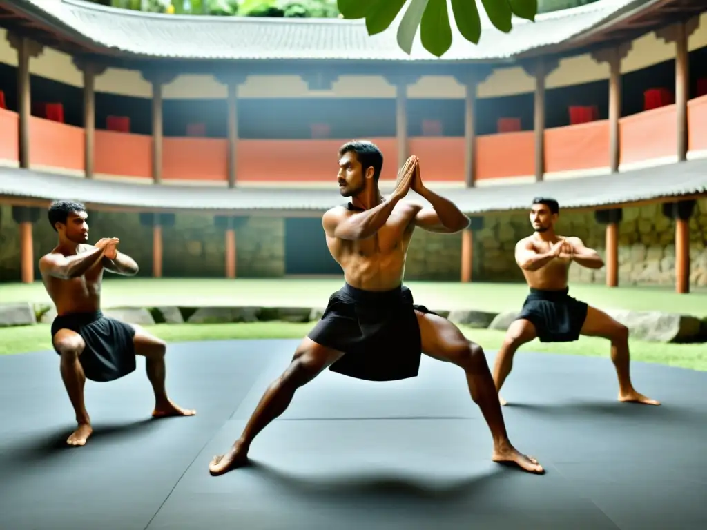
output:
<instances>
[{"instance_id":1,"label":"dark shadow on the mat beneath the central man","mask_svg":"<svg viewBox=\"0 0 707 530\"><path fill-rule=\"evenodd\" d=\"M309 500L320 497L321 500L352 499L353 497L405 498L415 502L455 502L469 500L474 493L486 490L492 481L501 480L513 473L523 473L518 469L498 466L493 471L477 476L460 479L416 479L392 473L346 473L332 478L303 478L284 473L267 464L250 461L243 469L249 469L254 476L259 476L269 483L274 483L286 493L307 497Z\"/></svg>"}]
</instances>

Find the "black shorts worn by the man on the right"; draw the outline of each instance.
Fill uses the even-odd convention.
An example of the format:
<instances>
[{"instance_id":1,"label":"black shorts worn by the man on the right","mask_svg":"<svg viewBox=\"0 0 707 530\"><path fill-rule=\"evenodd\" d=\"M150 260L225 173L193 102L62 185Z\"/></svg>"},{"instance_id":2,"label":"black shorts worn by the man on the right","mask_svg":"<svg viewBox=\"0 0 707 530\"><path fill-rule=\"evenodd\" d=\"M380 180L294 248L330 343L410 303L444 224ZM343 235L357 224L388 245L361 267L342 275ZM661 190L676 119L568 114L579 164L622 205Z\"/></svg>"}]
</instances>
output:
<instances>
[{"instance_id":1,"label":"black shorts worn by the man on the right","mask_svg":"<svg viewBox=\"0 0 707 530\"><path fill-rule=\"evenodd\" d=\"M516 319L535 326L540 342L571 342L579 338L588 305L568 295L569 289L530 289Z\"/></svg>"}]
</instances>

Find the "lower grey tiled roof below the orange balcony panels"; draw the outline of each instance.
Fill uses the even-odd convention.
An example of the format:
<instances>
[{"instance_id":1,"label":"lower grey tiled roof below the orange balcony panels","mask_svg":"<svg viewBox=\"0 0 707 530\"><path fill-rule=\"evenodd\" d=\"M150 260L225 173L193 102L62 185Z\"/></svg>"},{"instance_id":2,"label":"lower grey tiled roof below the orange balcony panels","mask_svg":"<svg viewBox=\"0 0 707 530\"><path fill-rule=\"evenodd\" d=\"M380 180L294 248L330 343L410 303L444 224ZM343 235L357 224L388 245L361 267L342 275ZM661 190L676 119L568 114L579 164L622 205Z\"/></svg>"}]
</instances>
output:
<instances>
[{"instance_id":1,"label":"lower grey tiled roof below the orange balcony panels","mask_svg":"<svg viewBox=\"0 0 707 530\"><path fill-rule=\"evenodd\" d=\"M391 182L381 182L390 187ZM434 188L431 185L431 188ZM534 196L551 196L562 208L608 206L707 194L707 159L633 170L616 175L508 184L474 189L439 189L467 214L525 210ZM73 199L93 206L143 210L200 210L247 215L255 211L325 211L343 204L338 190L235 188L131 184L0 168L0 196ZM412 193L411 199L419 199Z\"/></svg>"}]
</instances>

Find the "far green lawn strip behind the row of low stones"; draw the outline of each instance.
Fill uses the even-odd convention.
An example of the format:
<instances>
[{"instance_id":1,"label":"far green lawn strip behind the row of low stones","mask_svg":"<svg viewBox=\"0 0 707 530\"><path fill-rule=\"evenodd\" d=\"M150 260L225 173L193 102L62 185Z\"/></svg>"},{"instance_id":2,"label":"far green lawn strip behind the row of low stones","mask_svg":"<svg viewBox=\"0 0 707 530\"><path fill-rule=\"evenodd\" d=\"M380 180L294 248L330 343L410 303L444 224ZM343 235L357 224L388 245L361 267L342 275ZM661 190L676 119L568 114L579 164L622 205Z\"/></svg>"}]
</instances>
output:
<instances>
[{"instance_id":1,"label":"far green lawn strip behind the row of low stones","mask_svg":"<svg viewBox=\"0 0 707 530\"><path fill-rule=\"evenodd\" d=\"M206 305L323 307L343 279L153 279L110 278L103 284L103 307ZM415 301L432 310L485 310L503 312L520 309L527 293L522 283L406 282ZM707 317L707 290L679 295L670 286L607 288L575 284L571 295L602 309L660 310ZM0 283L1 302L51 301L40 282L30 285Z\"/></svg>"}]
</instances>

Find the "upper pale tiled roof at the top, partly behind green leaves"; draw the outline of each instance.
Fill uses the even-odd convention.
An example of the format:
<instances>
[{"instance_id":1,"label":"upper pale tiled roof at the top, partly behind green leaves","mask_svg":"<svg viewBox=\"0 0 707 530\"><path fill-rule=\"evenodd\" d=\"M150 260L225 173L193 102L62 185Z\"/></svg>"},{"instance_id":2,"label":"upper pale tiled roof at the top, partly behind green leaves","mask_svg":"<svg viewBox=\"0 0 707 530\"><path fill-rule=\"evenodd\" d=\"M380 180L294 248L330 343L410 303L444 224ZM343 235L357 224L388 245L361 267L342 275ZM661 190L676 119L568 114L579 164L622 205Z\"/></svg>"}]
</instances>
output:
<instances>
[{"instance_id":1,"label":"upper pale tiled roof at the top, partly behind green leaves","mask_svg":"<svg viewBox=\"0 0 707 530\"><path fill-rule=\"evenodd\" d=\"M478 45L464 40L452 23L452 47L441 59L423 49L419 32L411 54L402 52L396 40L397 21L385 32L369 36L363 20L175 16L107 8L81 0L13 0L6 4L30 8L65 33L133 57L489 61L571 40L621 13L640 11L654 2L598 0L539 15L535 23L517 18L508 34L486 20Z\"/></svg>"}]
</instances>

